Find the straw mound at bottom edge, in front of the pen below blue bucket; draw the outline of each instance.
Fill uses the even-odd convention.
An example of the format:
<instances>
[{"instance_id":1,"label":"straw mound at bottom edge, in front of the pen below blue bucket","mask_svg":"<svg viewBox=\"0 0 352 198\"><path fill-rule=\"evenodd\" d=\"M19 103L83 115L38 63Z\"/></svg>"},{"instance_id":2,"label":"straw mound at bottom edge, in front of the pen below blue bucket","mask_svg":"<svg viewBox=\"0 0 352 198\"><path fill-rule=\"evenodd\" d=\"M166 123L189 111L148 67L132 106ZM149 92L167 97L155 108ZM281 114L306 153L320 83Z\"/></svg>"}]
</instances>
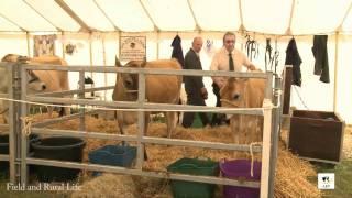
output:
<instances>
[{"instance_id":1,"label":"straw mound at bottom edge, in front of the pen below blue bucket","mask_svg":"<svg viewBox=\"0 0 352 198\"><path fill-rule=\"evenodd\" d=\"M72 194L72 198L95 198L95 197L125 197L134 198L135 185L131 176L103 174L87 183L84 183L81 190Z\"/></svg>"}]
</instances>

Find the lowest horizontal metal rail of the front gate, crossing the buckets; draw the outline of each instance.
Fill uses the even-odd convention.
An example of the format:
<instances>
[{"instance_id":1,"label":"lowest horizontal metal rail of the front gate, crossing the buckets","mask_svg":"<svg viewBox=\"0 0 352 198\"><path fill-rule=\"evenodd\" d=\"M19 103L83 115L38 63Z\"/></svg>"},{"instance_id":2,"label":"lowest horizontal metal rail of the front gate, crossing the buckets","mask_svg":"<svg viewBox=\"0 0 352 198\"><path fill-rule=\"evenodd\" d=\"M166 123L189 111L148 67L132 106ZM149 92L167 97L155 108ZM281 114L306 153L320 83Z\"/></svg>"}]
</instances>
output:
<instances>
[{"instance_id":1,"label":"lowest horizontal metal rail of the front gate, crossing the buckets","mask_svg":"<svg viewBox=\"0 0 352 198\"><path fill-rule=\"evenodd\" d=\"M193 180L193 182L199 182L199 183L243 186L243 187L252 187L252 188L260 187L257 182L239 182L234 179L220 178L220 177L173 174L167 172L146 172L146 170L140 170L140 169L129 169L129 168L118 167L118 166L61 162L61 161L52 161L52 160L32 158L32 157L29 157L26 160L29 164L36 164L36 165L57 166L57 167L87 169L87 170L96 170L96 172L110 172L110 173L140 175L140 176L177 179L177 180L189 180L189 182Z\"/></svg>"}]
</instances>

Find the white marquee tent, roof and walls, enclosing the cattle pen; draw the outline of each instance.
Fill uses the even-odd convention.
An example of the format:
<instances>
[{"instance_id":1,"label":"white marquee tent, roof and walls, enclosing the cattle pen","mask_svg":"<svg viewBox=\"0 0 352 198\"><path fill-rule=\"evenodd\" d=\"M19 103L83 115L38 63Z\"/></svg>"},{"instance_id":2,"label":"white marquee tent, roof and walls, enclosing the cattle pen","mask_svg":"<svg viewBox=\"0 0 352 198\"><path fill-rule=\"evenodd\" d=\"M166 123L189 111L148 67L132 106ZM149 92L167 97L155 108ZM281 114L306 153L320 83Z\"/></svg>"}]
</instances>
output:
<instances>
[{"instance_id":1,"label":"white marquee tent, roof and walls, enclosing the cattle pen","mask_svg":"<svg viewBox=\"0 0 352 198\"><path fill-rule=\"evenodd\" d=\"M55 54L69 65L113 65L122 35L146 36L147 59L169 58L176 34L186 53L201 35L204 69L221 47L226 31L238 34L244 50L245 34L260 43L253 62L264 68L265 38L279 51L279 70L288 41L295 37L302 64L302 86L295 87L292 105L299 109L337 111L352 123L352 0L0 0L0 56L33 56L33 36L56 34ZM312 74L312 36L327 34L330 84ZM65 45L77 46L73 55ZM280 72L279 72L280 73ZM114 76L94 74L98 86ZM103 79L103 80L98 80ZM206 78L211 92L211 79ZM70 75L76 88L77 75ZM208 99L213 105L213 97Z\"/></svg>"}]
</instances>

